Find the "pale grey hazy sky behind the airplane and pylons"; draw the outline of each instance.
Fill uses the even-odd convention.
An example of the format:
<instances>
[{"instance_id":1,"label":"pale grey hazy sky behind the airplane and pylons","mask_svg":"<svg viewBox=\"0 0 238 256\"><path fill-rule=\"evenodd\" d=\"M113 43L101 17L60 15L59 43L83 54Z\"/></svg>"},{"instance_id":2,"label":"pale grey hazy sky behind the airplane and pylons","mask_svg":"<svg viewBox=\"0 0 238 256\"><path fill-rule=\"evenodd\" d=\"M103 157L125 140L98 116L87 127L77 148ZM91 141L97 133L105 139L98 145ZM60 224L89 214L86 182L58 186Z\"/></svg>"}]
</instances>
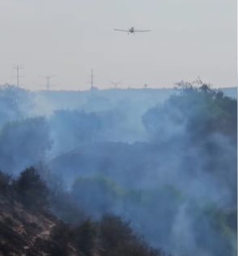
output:
<instances>
[{"instance_id":1,"label":"pale grey hazy sky behind the airplane and pylons","mask_svg":"<svg viewBox=\"0 0 238 256\"><path fill-rule=\"evenodd\" d=\"M236 0L0 0L0 31L0 84L20 64L28 89L88 89L91 68L100 88L236 85Z\"/></svg>"}]
</instances>

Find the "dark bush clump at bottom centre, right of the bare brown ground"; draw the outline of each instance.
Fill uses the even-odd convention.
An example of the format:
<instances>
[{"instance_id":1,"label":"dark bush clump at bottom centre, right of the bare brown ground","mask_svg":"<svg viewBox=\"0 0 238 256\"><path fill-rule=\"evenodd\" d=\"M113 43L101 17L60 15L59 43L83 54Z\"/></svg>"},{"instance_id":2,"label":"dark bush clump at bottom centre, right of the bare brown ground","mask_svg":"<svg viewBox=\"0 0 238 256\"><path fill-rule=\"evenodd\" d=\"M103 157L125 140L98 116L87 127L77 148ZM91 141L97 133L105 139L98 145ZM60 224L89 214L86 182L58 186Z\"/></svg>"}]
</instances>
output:
<instances>
[{"instance_id":1,"label":"dark bush clump at bottom centre, right of the bare brown ground","mask_svg":"<svg viewBox=\"0 0 238 256\"><path fill-rule=\"evenodd\" d=\"M164 256L159 249L152 249L120 217L104 215L100 222L87 220L78 227L58 223L51 232L51 255L69 255L70 248L85 256Z\"/></svg>"}]
</instances>

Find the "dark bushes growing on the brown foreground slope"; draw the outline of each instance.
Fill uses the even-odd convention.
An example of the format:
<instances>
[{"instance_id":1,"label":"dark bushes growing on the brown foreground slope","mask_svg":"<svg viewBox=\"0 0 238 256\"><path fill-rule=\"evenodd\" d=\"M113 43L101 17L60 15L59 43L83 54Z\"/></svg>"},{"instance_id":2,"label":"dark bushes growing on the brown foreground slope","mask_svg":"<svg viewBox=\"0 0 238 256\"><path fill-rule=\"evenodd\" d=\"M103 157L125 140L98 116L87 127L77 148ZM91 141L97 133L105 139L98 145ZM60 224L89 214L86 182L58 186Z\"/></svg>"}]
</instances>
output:
<instances>
[{"instance_id":1,"label":"dark bushes growing on the brown foreground slope","mask_svg":"<svg viewBox=\"0 0 238 256\"><path fill-rule=\"evenodd\" d=\"M47 210L49 207L54 206L55 200L53 197L57 197L57 200L61 202L60 205L57 205L58 210L71 210L71 208L66 208L68 205L64 205L58 195L49 191L44 180L40 178L38 171L34 167L22 171L17 179L12 179L11 176L1 171L1 196L11 200L12 208L14 208L15 202L22 203L27 210L35 213L35 218L37 218L39 211ZM77 208L75 210L77 211ZM2 212L4 213L4 210ZM16 213L15 215L15 220L19 221ZM95 222L90 219L84 220L79 214L74 215L74 221L77 222L77 220L79 220L78 224L70 225L61 221L53 227L49 237L52 241L57 242L56 245L51 246L49 249L49 255L71 255L69 245L74 246L77 250L77 255L83 254L85 256L95 254L103 256L165 255L161 250L152 249L142 241L142 238L133 232L130 223L126 223L120 217L104 215L100 221ZM11 227L11 223L9 223L9 226ZM3 237L3 241L6 239L9 241L14 240L13 237L11 239L7 236L6 230L3 229L0 237ZM6 246L3 246L5 245L3 241L0 239L0 254L11 255L11 249L6 249Z\"/></svg>"}]
</instances>

